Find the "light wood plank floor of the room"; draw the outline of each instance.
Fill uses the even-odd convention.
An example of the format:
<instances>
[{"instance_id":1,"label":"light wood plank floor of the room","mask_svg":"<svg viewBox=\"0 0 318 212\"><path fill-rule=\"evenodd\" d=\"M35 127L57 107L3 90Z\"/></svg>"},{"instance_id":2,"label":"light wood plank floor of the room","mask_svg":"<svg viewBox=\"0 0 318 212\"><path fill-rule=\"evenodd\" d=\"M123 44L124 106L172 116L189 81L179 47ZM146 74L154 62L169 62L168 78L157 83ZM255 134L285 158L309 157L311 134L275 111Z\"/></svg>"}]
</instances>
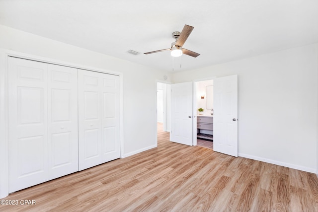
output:
<instances>
[{"instance_id":1,"label":"light wood plank floor of the room","mask_svg":"<svg viewBox=\"0 0 318 212\"><path fill-rule=\"evenodd\" d=\"M317 212L315 174L169 142L9 195L0 211Z\"/></svg>"}]
</instances>

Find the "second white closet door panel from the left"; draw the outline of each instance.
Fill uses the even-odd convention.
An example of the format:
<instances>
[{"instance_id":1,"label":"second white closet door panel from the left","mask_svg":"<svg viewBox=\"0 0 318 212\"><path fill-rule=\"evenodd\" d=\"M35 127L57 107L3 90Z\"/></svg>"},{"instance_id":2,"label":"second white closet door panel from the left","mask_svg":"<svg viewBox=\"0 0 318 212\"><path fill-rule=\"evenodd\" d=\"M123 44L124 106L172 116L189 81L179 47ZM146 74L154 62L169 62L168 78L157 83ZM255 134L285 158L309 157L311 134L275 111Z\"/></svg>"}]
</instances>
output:
<instances>
[{"instance_id":1,"label":"second white closet door panel from the left","mask_svg":"<svg viewBox=\"0 0 318 212\"><path fill-rule=\"evenodd\" d=\"M48 65L49 178L78 171L78 70Z\"/></svg>"}]
</instances>

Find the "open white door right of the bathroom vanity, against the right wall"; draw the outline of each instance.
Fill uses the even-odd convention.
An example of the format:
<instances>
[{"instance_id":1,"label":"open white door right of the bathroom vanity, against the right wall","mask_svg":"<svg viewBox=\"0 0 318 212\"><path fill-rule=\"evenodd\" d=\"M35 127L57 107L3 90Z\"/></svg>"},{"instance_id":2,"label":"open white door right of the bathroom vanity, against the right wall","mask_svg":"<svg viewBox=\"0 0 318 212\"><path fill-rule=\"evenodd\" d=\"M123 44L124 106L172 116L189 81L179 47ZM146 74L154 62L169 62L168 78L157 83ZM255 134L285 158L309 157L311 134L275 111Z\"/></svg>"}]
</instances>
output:
<instances>
[{"instance_id":1,"label":"open white door right of the bathroom vanity, against the right wall","mask_svg":"<svg viewBox=\"0 0 318 212\"><path fill-rule=\"evenodd\" d=\"M238 156L238 75L214 79L213 150Z\"/></svg>"}]
</instances>

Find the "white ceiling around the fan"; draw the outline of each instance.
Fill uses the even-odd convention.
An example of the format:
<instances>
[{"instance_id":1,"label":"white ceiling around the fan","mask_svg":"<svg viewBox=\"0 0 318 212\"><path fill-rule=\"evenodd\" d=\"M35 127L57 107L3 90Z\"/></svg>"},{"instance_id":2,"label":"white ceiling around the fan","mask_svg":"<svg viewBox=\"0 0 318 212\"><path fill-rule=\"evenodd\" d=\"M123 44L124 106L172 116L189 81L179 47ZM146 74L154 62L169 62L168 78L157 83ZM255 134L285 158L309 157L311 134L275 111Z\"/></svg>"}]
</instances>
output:
<instances>
[{"instance_id":1,"label":"white ceiling around the fan","mask_svg":"<svg viewBox=\"0 0 318 212\"><path fill-rule=\"evenodd\" d=\"M164 71L169 52L127 51L170 48L188 24L201 55L175 58L183 71L318 43L318 0L0 0L0 24Z\"/></svg>"}]
</instances>

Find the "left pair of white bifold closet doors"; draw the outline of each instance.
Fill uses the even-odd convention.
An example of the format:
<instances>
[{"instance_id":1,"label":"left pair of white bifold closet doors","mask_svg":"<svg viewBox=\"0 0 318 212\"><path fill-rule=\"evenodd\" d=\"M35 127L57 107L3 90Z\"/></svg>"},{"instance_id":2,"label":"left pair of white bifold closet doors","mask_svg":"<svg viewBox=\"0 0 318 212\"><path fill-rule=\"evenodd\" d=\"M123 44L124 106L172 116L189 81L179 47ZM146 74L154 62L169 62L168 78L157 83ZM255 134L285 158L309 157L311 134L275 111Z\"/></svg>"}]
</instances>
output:
<instances>
[{"instance_id":1,"label":"left pair of white bifold closet doors","mask_svg":"<svg viewBox=\"0 0 318 212\"><path fill-rule=\"evenodd\" d=\"M77 69L8 58L9 192L78 170Z\"/></svg>"}]
</instances>

